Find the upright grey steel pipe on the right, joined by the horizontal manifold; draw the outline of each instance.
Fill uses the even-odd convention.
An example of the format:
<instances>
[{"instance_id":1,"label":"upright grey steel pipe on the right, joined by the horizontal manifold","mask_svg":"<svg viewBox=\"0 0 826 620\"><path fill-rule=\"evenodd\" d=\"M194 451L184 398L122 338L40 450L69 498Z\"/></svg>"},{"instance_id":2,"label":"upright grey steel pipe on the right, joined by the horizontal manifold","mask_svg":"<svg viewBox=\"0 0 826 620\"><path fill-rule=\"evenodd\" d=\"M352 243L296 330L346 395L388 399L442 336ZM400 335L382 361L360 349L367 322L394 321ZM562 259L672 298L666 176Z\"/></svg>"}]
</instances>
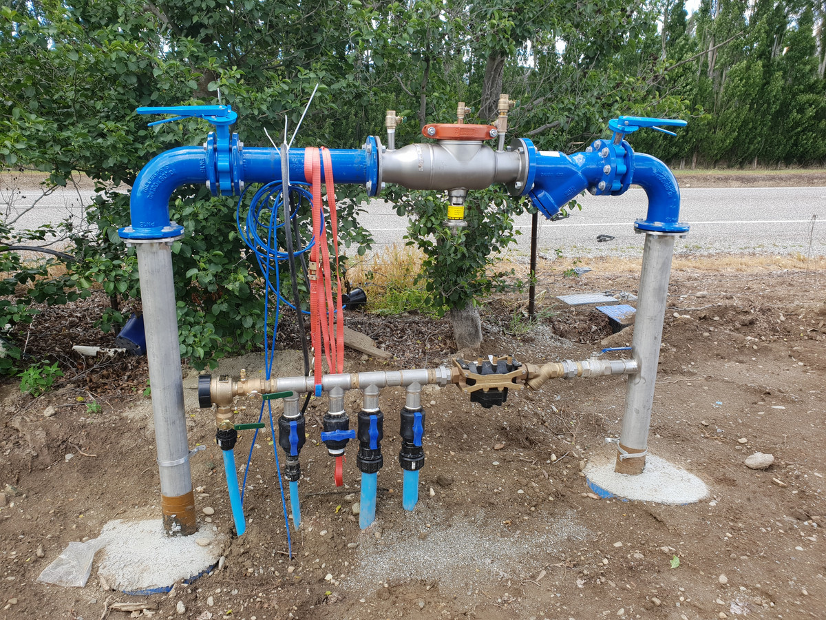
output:
<instances>
[{"instance_id":1,"label":"upright grey steel pipe on the right, joined by the horizontal manifold","mask_svg":"<svg viewBox=\"0 0 826 620\"><path fill-rule=\"evenodd\" d=\"M620 474L642 474L645 469L648 427L651 423L654 384L660 359L662 322L666 313L674 241L674 235L645 235L632 341L632 356L639 370L630 377L625 395L625 415L615 465L615 471ZM633 456L634 454L641 456Z\"/></svg>"}]
</instances>

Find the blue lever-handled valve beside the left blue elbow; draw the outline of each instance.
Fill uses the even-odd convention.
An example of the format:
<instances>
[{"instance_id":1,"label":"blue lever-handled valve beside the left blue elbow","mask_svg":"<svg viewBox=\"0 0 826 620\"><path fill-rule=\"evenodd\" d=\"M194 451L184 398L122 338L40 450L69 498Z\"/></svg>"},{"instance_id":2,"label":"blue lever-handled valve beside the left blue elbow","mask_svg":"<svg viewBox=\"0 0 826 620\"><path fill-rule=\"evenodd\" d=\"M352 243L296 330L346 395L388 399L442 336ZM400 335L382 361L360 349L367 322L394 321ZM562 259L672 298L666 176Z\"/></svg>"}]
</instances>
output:
<instances>
[{"instance_id":1,"label":"blue lever-handled valve beside the left blue elbow","mask_svg":"<svg viewBox=\"0 0 826 620\"><path fill-rule=\"evenodd\" d=\"M150 127L182 121L184 118L202 118L214 125L215 131L210 132L204 144L207 150L207 188L213 196L232 196L244 191L244 179L241 178L241 151L244 143L239 140L237 133L230 136L230 125L238 120L238 112L232 106L139 107L135 112L175 115L150 122Z\"/></svg>"}]
</instances>

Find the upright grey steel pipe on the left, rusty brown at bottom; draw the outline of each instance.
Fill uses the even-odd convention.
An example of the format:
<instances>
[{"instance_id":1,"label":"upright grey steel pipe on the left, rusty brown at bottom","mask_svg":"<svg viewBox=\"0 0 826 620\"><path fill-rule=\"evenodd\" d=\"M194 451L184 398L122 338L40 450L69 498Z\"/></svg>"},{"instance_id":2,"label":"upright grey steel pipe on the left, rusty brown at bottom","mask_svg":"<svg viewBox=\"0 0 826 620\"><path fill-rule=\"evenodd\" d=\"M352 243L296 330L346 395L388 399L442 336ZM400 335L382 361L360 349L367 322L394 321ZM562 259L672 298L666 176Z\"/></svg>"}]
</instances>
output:
<instances>
[{"instance_id":1,"label":"upright grey steel pipe on the left, rusty brown at bottom","mask_svg":"<svg viewBox=\"0 0 826 620\"><path fill-rule=\"evenodd\" d=\"M158 449L164 531L188 535L196 531L192 476L189 470L187 421L183 411L181 352L169 241L135 242L144 309L146 359L150 370L155 445ZM188 505L192 503L191 514ZM187 508L180 508L186 504ZM173 507L168 509L167 507Z\"/></svg>"}]
</instances>

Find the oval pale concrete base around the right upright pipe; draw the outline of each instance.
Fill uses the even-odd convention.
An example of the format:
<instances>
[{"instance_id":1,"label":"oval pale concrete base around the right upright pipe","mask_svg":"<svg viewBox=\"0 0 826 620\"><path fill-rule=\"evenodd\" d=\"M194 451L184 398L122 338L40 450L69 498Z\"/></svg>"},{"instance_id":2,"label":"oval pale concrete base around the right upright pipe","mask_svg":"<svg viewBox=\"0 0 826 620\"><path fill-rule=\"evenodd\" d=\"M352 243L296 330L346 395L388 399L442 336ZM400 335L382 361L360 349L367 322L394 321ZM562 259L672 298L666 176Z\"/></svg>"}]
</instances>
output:
<instances>
[{"instance_id":1,"label":"oval pale concrete base around the right upright pipe","mask_svg":"<svg viewBox=\"0 0 826 620\"><path fill-rule=\"evenodd\" d=\"M584 470L588 486L601 498L682 505L709 495L705 483L658 456L648 455L640 475L617 474L612 455L597 457Z\"/></svg>"}]
</instances>

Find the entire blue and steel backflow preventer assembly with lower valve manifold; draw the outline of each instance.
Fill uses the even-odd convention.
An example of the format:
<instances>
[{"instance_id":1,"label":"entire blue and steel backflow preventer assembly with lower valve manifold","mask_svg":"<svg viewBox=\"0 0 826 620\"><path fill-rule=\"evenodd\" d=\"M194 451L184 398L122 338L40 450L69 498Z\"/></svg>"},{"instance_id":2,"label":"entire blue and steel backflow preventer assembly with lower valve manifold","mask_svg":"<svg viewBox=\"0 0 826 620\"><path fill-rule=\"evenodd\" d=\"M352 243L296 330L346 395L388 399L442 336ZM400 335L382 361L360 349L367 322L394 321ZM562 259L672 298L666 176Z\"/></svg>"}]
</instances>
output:
<instances>
[{"instance_id":1,"label":"entire blue and steel backflow preventer assembly with lower valve manifold","mask_svg":"<svg viewBox=\"0 0 826 620\"><path fill-rule=\"evenodd\" d=\"M420 390L427 384L457 384L472 401L491 407L503 403L509 389L539 389L548 379L628 374L615 470L630 475L643 472L674 240L676 236L686 235L689 227L679 222L680 191L671 171L651 155L634 153L624 138L643 127L670 133L659 125L685 126L686 123L619 117L609 122L613 131L609 140L596 140L583 152L565 155L537 150L526 138L512 139L506 148L510 106L507 95L502 95L499 118L494 125L470 125L463 123L465 109L460 103L458 123L426 125L422 134L433 141L398 149L395 131L399 119L396 112L388 111L387 146L382 145L377 136L370 136L361 149L323 149L321 152L290 150L286 144L281 149L245 147L238 134L230 134L237 115L229 106L139 108L138 112L144 114L201 117L216 127L202 147L168 150L141 170L131 193L131 225L119 231L122 239L136 247L138 257L166 532L188 535L197 531L189 465L193 451L188 447L184 417L170 249L173 241L183 236L183 227L169 221L169 199L173 191L184 184L206 183L213 195L230 196L243 193L245 185L268 184L264 186L267 188L275 183L266 199L275 192L287 196L286 200L282 198L282 204L286 203L284 222L294 219L290 212L293 192L309 196L309 185L313 193L320 196L320 184L324 182L330 198L330 194L335 193L331 191L334 179L339 184L362 184L370 196L377 196L385 184L441 190L448 193L448 222L454 227L465 225L464 201L468 190L492 184L505 185L511 196L527 196L546 217L553 217L584 190L601 196L618 196L636 184L648 195L647 216L634 222L635 229L645 235L645 245L630 359L603 360L593 356L589 360L531 365L510 356L491 355L477 360L454 360L451 367L346 374L342 372L339 356L338 365L330 365L330 374L321 374L318 365L315 376L307 373L308 376L273 378L268 372L267 378L248 378L244 373L232 379L202 375L198 385L199 402L202 407L214 408L216 413L216 442L224 455L230 503L239 535L245 526L235 470L235 441L240 430L255 428L257 432L263 424L236 423L234 399L250 394L258 394L270 407L273 401L283 403L282 415L278 417L278 437L273 436L273 441L277 440L286 457L282 474L289 482L295 527L301 522L299 454L306 441L305 418L299 403L301 394L326 393L328 396L329 411L323 420L321 441L325 442L330 455L336 457L337 484L340 484L345 447L349 440L358 440L357 464L362 472L361 527L368 527L375 517L377 473L383 465L381 442L386 430L379 393L390 386L406 389L406 402L398 422L401 435L398 462L404 472L402 503L407 510L412 510L418 499L419 471L425 462L426 416L421 407ZM486 145L489 139L496 139L498 148ZM332 200L335 201L335 197ZM320 215L321 209L315 204L313 208L314 217ZM335 202L330 202L330 220L335 236ZM309 279L316 286L316 278L323 280L323 263L329 264L329 258L325 257L326 240L319 241L325 223L321 226L314 231L314 243L316 249L321 246L321 254L309 265ZM285 236L291 235L285 233ZM269 241L266 245L270 252ZM292 260L292 248L289 254ZM328 282L328 292L330 289ZM340 321L340 312L330 303L322 311L320 320L320 331L325 332L325 337L328 327L340 334L340 324L337 329L333 326L334 315L337 315L336 321ZM327 344L330 351L330 343ZM341 342L338 344L343 346ZM323 347L315 341L314 346L316 358L320 360ZM334 354L335 347L334 341ZM355 430L350 429L344 409L344 393L351 389L363 392ZM275 434L272 419L271 413L271 429Z\"/></svg>"}]
</instances>

